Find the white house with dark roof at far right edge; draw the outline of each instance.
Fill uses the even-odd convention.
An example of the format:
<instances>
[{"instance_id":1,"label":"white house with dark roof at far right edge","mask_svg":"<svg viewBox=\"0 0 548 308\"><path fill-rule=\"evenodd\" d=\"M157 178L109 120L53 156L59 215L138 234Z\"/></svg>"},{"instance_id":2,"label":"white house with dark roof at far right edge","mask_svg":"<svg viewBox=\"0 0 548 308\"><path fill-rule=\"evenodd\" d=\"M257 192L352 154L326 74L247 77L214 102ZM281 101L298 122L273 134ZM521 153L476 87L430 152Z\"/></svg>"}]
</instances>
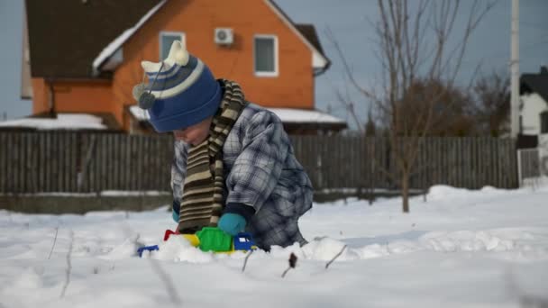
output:
<instances>
[{"instance_id":1,"label":"white house with dark roof at far right edge","mask_svg":"<svg viewBox=\"0 0 548 308\"><path fill-rule=\"evenodd\" d=\"M520 148L534 148L541 134L548 133L548 68L538 74L523 74L519 80ZM527 143L527 144L524 144Z\"/></svg>"}]
</instances>

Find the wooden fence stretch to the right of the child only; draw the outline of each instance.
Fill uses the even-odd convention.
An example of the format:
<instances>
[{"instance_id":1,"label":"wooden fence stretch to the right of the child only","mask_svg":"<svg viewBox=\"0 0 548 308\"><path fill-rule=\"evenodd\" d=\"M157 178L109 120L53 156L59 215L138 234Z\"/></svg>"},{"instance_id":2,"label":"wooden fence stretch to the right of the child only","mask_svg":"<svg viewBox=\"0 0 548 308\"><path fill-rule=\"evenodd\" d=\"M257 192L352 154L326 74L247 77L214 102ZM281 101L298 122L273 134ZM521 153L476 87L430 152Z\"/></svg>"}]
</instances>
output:
<instances>
[{"instance_id":1,"label":"wooden fence stretch to the right of the child only","mask_svg":"<svg viewBox=\"0 0 548 308\"><path fill-rule=\"evenodd\" d=\"M292 140L297 158L316 189L397 189L399 186L386 176L386 171L397 175L396 159L388 140L360 136L296 136ZM436 184L470 189L516 187L514 141L483 137L426 138L418 151L410 187L426 189Z\"/></svg>"}]
</instances>

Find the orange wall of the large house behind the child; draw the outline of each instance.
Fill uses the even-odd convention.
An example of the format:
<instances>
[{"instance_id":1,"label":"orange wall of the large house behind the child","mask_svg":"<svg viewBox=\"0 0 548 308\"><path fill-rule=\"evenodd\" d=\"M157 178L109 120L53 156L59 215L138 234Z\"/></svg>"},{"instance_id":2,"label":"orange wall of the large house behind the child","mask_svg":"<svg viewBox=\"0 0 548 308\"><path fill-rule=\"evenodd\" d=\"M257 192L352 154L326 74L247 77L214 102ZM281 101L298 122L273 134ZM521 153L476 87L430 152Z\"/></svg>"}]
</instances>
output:
<instances>
[{"instance_id":1,"label":"orange wall of the large house behind the child","mask_svg":"<svg viewBox=\"0 0 548 308\"><path fill-rule=\"evenodd\" d=\"M239 12L241 12L239 14ZM233 28L234 44L215 44L217 27ZM112 112L129 129L126 105L135 104L132 86L142 79L142 59L159 61L160 32L184 32L187 49L202 59L215 77L238 81L246 98L270 107L314 108L312 52L263 0L169 1L123 45L123 64L112 84L74 82L56 86L58 112ZM255 34L278 36L279 76L256 77ZM33 80L34 112L48 106L43 80Z\"/></svg>"}]
</instances>

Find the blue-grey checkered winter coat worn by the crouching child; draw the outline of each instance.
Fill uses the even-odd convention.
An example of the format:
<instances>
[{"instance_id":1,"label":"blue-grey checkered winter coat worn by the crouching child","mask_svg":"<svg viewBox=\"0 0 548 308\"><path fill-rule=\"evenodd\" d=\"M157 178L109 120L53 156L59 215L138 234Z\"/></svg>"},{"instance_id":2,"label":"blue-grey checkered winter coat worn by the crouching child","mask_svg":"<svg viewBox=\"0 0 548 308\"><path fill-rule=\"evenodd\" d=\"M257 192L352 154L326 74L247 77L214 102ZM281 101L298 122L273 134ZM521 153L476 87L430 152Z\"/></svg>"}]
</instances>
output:
<instances>
[{"instance_id":1,"label":"blue-grey checkered winter coat worn by the crouching child","mask_svg":"<svg viewBox=\"0 0 548 308\"><path fill-rule=\"evenodd\" d=\"M175 141L171 186L176 201L183 195L187 148ZM248 104L224 142L223 161L225 204L254 208L246 231L259 247L304 245L297 220L312 207L312 185L278 116Z\"/></svg>"}]
</instances>

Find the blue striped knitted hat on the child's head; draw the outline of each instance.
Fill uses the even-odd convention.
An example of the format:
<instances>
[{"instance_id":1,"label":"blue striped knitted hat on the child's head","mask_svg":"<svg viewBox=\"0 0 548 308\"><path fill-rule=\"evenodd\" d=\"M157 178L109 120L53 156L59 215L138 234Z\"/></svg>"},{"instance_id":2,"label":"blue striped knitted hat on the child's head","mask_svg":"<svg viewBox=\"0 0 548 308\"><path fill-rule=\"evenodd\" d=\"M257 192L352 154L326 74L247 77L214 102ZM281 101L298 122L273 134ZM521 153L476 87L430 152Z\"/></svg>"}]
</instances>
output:
<instances>
[{"instance_id":1,"label":"blue striped knitted hat on the child's head","mask_svg":"<svg viewBox=\"0 0 548 308\"><path fill-rule=\"evenodd\" d=\"M141 66L150 82L135 86L133 96L148 110L156 131L184 129L215 115L221 86L205 63L190 55L180 41L173 42L162 62L142 61Z\"/></svg>"}]
</instances>

